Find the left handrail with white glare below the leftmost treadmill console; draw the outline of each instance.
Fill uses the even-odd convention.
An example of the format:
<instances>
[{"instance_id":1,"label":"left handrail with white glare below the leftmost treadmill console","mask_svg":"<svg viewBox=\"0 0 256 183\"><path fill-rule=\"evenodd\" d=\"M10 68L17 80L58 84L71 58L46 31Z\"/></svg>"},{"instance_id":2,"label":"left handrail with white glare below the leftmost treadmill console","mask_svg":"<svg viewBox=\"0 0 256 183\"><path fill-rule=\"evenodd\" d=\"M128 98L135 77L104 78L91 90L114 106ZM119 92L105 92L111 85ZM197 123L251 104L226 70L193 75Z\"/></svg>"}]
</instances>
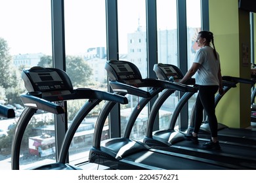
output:
<instances>
[{"instance_id":1,"label":"left handrail with white glare below the leftmost treadmill console","mask_svg":"<svg viewBox=\"0 0 256 183\"><path fill-rule=\"evenodd\" d=\"M45 111L51 112L53 114L63 114L64 113L64 109L62 107L60 107L60 105L56 105L55 103L52 103L45 99L35 97L28 93L26 93L26 94L23 93L20 95L20 97L22 99L22 102L24 103L24 106L26 106L26 107L45 110Z\"/></svg>"}]
</instances>

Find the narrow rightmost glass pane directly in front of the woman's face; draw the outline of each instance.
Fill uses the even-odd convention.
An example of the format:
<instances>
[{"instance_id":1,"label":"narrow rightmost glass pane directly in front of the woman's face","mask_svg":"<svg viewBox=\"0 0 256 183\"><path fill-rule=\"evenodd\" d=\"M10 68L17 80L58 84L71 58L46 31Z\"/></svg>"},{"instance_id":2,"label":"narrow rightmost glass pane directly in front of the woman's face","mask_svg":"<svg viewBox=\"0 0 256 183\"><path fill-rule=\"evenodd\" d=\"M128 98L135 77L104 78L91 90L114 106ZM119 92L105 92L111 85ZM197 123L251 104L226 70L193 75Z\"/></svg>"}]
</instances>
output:
<instances>
[{"instance_id":1,"label":"narrow rightmost glass pane directly in front of the woman's face","mask_svg":"<svg viewBox=\"0 0 256 183\"><path fill-rule=\"evenodd\" d=\"M188 69L191 67L198 44L196 38L198 32L201 31L201 1L200 0L186 0L186 24L188 33ZM195 93L188 101L188 123L190 122L190 113L196 101L197 93Z\"/></svg>"}]
</instances>

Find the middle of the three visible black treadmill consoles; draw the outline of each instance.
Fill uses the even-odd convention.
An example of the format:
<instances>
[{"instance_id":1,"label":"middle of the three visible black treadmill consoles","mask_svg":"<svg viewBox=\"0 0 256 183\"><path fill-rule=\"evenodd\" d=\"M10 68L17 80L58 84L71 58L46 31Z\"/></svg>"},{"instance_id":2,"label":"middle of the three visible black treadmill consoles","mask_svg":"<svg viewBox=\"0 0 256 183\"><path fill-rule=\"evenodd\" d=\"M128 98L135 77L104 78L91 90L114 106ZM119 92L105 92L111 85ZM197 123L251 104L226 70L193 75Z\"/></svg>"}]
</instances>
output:
<instances>
[{"instance_id":1,"label":"middle of the three visible black treadmill consoles","mask_svg":"<svg viewBox=\"0 0 256 183\"><path fill-rule=\"evenodd\" d=\"M112 59L106 62L105 69L110 80L141 80L142 76L136 65L129 61Z\"/></svg>"}]
</instances>

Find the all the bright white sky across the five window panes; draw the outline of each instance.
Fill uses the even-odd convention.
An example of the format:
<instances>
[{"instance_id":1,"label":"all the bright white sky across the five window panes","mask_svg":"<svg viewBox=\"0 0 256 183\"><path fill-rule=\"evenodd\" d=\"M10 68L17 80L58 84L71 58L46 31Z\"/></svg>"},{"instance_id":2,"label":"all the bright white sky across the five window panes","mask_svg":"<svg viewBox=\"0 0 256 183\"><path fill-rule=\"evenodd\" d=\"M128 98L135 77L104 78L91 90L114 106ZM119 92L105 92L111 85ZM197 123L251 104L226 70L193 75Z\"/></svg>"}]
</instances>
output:
<instances>
[{"instance_id":1,"label":"all the bright white sky across the five window panes","mask_svg":"<svg viewBox=\"0 0 256 183\"><path fill-rule=\"evenodd\" d=\"M198 2L200 0L197 0ZM66 54L81 54L88 48L106 47L105 0L64 0ZM127 50L127 33L138 24L146 27L145 0L119 0L119 51ZM200 5L187 2L188 26L198 27ZM158 29L173 29L177 22L175 0L158 0ZM166 22L170 20L170 24ZM196 25L197 24L197 25ZM43 53L51 55L51 0L0 0L0 37L10 53Z\"/></svg>"}]
</instances>

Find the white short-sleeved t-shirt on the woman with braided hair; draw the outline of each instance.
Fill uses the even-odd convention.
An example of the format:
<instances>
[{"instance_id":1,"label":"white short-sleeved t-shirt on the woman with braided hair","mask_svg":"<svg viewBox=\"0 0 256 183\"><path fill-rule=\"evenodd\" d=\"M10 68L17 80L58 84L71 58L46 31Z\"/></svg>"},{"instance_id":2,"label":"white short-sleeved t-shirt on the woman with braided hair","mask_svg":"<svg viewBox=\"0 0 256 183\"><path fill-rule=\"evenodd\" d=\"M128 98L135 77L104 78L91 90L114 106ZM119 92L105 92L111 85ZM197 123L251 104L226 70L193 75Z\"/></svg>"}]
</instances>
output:
<instances>
[{"instance_id":1,"label":"white short-sleeved t-shirt on the woman with braided hair","mask_svg":"<svg viewBox=\"0 0 256 183\"><path fill-rule=\"evenodd\" d=\"M195 76L196 84L219 86L218 72L220 61L218 53L217 58L215 59L211 46L202 47L196 52L194 62L200 63Z\"/></svg>"}]
</instances>

